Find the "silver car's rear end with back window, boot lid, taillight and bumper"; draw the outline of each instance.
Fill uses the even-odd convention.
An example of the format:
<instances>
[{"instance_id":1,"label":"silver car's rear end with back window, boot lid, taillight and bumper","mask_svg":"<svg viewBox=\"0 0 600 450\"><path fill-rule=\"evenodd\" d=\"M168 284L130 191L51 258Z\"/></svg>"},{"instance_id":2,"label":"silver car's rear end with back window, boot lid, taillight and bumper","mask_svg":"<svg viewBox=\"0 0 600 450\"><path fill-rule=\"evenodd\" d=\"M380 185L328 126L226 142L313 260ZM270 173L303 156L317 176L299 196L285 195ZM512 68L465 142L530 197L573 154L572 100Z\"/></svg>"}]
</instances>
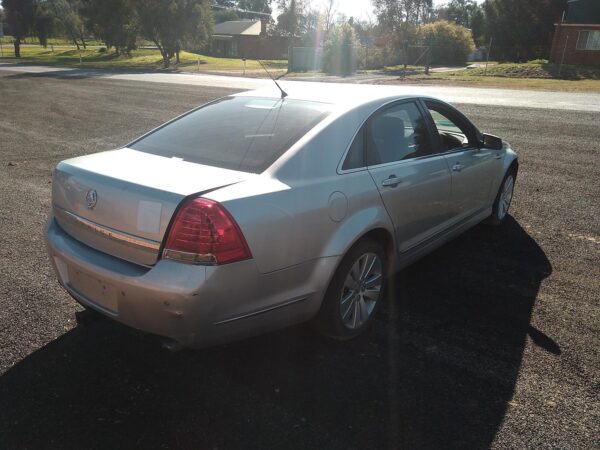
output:
<instances>
[{"instance_id":1,"label":"silver car's rear end with back window, boot lid, taillight and bumper","mask_svg":"<svg viewBox=\"0 0 600 450\"><path fill-rule=\"evenodd\" d=\"M225 112L236 110L234 102L223 104ZM219 108L192 113L128 148L57 166L47 245L60 283L78 302L185 346L309 318L314 306L304 302L317 304L318 295L297 295L298 283L311 285L314 264L261 272L238 220L210 196L255 183L326 109L311 109L294 126L297 111L282 114L276 99L245 98L240 106L246 115L260 113L238 117L248 123L235 129L228 129L235 117L217 123Z\"/></svg>"}]
</instances>

